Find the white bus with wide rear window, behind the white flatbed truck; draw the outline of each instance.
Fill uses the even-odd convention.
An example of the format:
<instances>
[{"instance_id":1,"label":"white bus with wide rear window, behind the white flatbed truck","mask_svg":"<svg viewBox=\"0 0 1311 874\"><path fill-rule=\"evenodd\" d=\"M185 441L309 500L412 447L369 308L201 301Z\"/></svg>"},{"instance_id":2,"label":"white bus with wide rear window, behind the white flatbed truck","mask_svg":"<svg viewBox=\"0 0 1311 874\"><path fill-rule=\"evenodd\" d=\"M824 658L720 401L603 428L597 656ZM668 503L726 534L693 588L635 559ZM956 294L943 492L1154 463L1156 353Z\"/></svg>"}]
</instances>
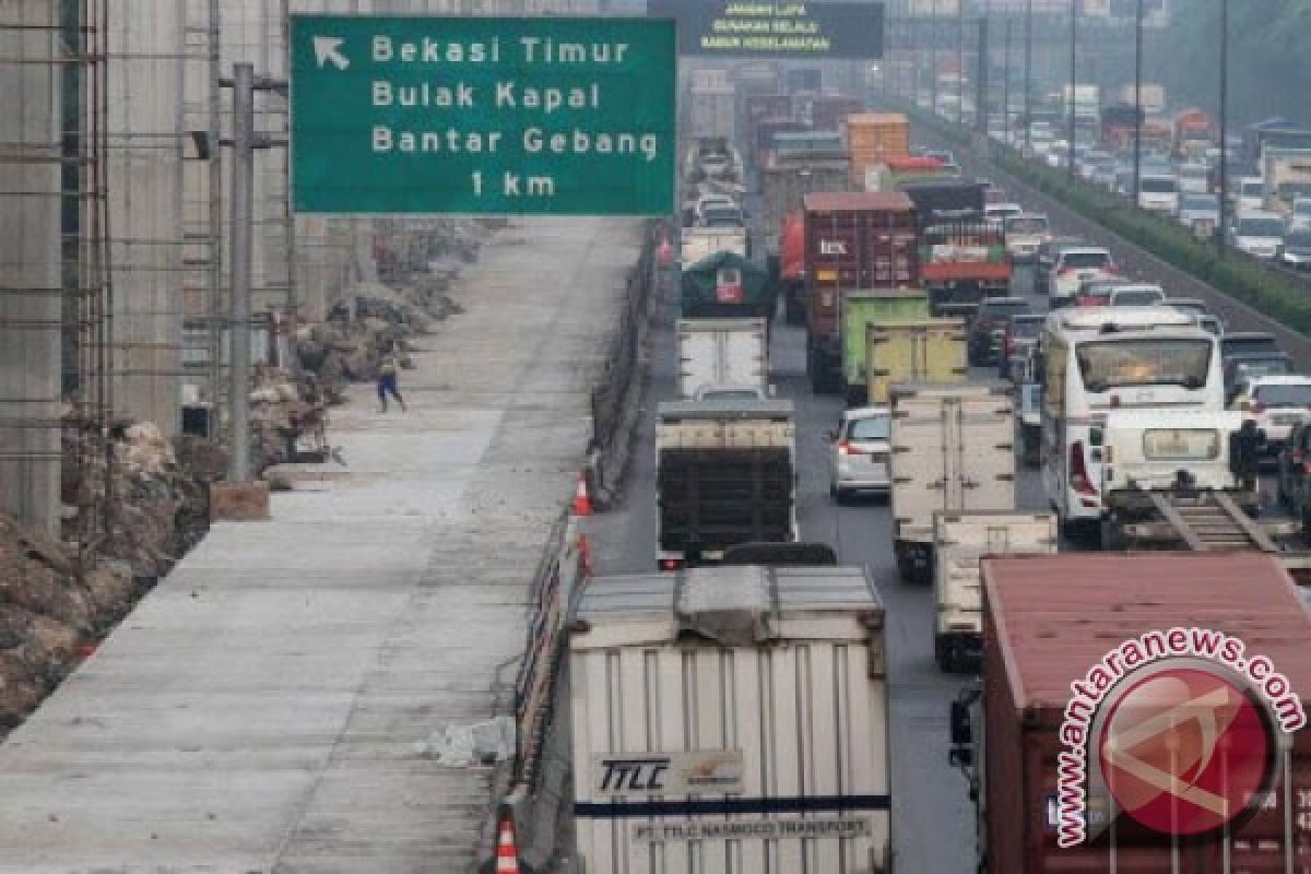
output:
<instances>
[{"instance_id":1,"label":"white bus with wide rear window, behind the white flatbed truck","mask_svg":"<svg viewBox=\"0 0 1311 874\"><path fill-rule=\"evenodd\" d=\"M1110 410L1223 410L1215 337L1169 307L1062 309L1047 316L1042 486L1067 536L1091 537L1103 518L1103 443Z\"/></svg>"}]
</instances>

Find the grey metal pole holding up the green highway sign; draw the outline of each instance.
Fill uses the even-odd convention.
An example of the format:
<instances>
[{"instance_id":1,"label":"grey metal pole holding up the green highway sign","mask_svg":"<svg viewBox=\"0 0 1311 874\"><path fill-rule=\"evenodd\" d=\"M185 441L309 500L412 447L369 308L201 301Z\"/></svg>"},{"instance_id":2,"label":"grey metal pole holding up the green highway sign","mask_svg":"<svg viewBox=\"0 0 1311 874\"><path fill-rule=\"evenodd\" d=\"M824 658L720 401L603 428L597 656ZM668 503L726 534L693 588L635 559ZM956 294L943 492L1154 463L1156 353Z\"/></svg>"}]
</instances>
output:
<instances>
[{"instance_id":1,"label":"grey metal pole holding up the green highway sign","mask_svg":"<svg viewBox=\"0 0 1311 874\"><path fill-rule=\"evenodd\" d=\"M250 248L254 231L254 67L232 68L232 295L229 301L228 388L232 447L228 478L250 480Z\"/></svg>"}]
</instances>

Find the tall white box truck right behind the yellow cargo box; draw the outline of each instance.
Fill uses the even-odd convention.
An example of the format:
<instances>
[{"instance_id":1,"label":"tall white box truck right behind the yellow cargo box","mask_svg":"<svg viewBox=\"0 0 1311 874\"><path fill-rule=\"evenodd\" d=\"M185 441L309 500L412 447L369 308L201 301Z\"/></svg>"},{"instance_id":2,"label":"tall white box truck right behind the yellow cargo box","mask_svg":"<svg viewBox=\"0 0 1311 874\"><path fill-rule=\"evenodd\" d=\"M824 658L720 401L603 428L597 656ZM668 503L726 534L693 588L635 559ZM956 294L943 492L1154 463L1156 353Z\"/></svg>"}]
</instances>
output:
<instances>
[{"instance_id":1,"label":"tall white box truck right behind the yellow cargo box","mask_svg":"<svg viewBox=\"0 0 1311 874\"><path fill-rule=\"evenodd\" d=\"M1009 385L891 388L893 552L906 580L931 579L933 514L1015 508Z\"/></svg>"}]
</instances>

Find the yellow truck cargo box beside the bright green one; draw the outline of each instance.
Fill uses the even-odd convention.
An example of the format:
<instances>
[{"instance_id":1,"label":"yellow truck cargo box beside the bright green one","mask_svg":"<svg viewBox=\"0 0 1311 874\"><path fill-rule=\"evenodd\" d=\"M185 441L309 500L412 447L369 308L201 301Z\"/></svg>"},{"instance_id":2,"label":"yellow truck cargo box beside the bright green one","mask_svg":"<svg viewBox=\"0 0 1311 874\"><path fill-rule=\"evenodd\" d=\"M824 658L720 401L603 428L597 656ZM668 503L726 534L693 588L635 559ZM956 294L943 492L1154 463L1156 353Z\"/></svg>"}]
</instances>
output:
<instances>
[{"instance_id":1,"label":"yellow truck cargo box beside the bright green one","mask_svg":"<svg viewBox=\"0 0 1311 874\"><path fill-rule=\"evenodd\" d=\"M969 377L965 322L915 318L865 325L865 401L891 400L897 383L961 384Z\"/></svg>"}]
</instances>

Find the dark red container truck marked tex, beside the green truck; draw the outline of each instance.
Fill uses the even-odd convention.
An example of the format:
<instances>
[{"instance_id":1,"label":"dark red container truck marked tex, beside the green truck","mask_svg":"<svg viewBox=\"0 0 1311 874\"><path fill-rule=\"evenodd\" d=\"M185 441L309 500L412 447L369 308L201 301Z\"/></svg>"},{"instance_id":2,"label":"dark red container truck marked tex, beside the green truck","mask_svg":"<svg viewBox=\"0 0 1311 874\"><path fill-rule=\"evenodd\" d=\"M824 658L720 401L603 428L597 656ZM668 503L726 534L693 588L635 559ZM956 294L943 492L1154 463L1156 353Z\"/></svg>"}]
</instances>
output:
<instances>
[{"instance_id":1,"label":"dark red container truck marked tex, beside the green truck","mask_svg":"<svg viewBox=\"0 0 1311 874\"><path fill-rule=\"evenodd\" d=\"M842 295L919 283L915 204L899 191L805 197L806 371L817 392L842 387Z\"/></svg>"}]
</instances>

